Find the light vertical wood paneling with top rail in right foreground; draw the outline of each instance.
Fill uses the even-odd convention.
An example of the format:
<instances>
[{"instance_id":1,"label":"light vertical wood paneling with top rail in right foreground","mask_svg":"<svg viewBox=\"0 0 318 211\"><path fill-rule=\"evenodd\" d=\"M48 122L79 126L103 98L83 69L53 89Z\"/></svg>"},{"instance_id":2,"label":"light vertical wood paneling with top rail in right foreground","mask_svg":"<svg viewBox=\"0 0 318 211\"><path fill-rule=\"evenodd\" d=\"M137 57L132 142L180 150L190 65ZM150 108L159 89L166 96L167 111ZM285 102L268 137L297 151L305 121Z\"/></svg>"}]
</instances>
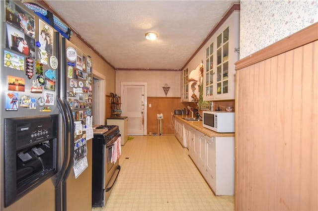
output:
<instances>
[{"instance_id":1,"label":"light vertical wood paneling with top rail in right foreground","mask_svg":"<svg viewBox=\"0 0 318 211\"><path fill-rule=\"evenodd\" d=\"M318 210L318 24L236 63L238 211Z\"/></svg>"}]
</instances>

